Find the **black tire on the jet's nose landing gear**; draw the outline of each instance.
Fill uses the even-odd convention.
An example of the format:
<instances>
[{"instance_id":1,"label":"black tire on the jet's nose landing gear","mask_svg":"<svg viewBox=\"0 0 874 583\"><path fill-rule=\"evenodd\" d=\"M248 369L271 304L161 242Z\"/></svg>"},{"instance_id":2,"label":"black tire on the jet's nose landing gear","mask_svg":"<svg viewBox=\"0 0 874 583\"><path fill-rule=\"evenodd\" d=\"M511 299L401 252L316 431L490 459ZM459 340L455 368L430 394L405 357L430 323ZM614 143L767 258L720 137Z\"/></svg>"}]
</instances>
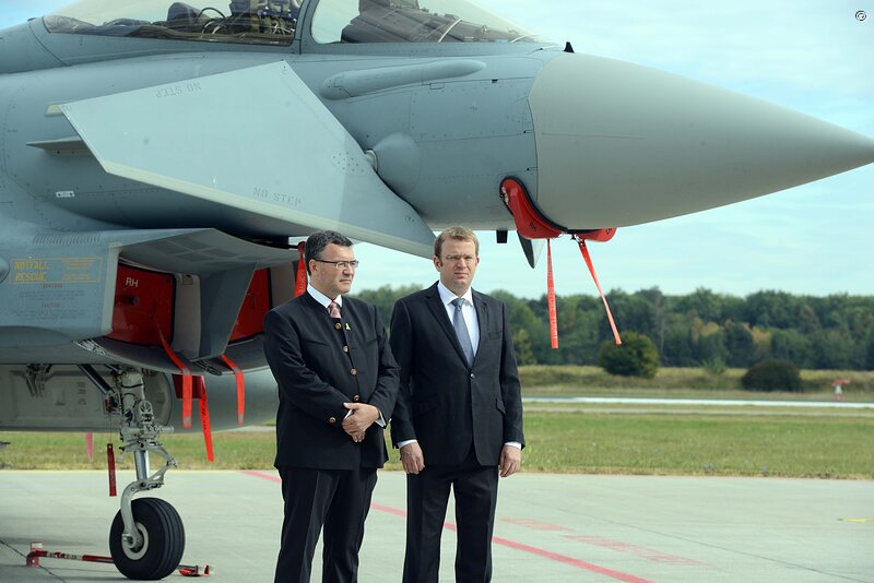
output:
<instances>
[{"instance_id":1,"label":"black tire on the jet's nose landing gear","mask_svg":"<svg viewBox=\"0 0 874 583\"><path fill-rule=\"evenodd\" d=\"M160 498L138 498L131 503L133 522L143 535L143 546L131 549L121 542L125 523L121 511L109 528L109 554L116 568L128 579L164 579L179 566L185 551L185 528L179 513Z\"/></svg>"}]
</instances>

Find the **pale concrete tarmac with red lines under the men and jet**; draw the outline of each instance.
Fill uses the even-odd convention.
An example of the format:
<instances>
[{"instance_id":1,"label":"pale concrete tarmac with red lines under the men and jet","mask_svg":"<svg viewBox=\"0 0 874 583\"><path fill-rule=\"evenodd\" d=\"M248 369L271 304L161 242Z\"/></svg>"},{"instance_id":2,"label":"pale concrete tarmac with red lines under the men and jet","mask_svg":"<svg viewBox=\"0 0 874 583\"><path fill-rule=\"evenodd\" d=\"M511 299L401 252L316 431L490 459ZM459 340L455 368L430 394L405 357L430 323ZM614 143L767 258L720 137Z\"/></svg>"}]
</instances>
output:
<instances>
[{"instance_id":1,"label":"pale concrete tarmac with red lines under the men and jet","mask_svg":"<svg viewBox=\"0 0 874 583\"><path fill-rule=\"evenodd\" d=\"M132 473L119 474L119 491ZM153 493L186 526L182 562L213 582L270 582L282 497L276 473L170 471ZM401 581L405 476L381 472L359 581ZM108 555L102 472L0 471L0 582L126 581L111 564L40 559L31 543ZM440 581L453 581L447 516ZM525 474L503 479L493 545L495 582L874 582L874 481ZM174 573L166 581L179 581ZM320 581L320 551L312 581Z\"/></svg>"}]
</instances>

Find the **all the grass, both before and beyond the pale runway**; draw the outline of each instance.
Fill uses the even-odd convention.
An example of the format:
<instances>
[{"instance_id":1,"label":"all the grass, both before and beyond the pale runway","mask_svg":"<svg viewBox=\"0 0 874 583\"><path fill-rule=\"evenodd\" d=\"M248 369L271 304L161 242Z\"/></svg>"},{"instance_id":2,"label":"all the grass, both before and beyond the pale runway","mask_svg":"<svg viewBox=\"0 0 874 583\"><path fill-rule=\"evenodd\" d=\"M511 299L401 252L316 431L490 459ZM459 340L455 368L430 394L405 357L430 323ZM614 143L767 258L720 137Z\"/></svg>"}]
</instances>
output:
<instances>
[{"instance_id":1,"label":"all the grass, both before and beyond the pale runway","mask_svg":"<svg viewBox=\"0 0 874 583\"><path fill-rule=\"evenodd\" d=\"M751 393L744 370L722 374L662 368L653 379L612 377L597 367L522 367L523 395L651 396L832 401L834 379L849 379L847 402L874 402L874 371L802 371L803 393ZM654 475L782 476L874 479L874 409L737 405L531 403L525 405L523 471ZM164 443L188 469L272 466L275 437L260 431L215 433L215 462L199 435ZM88 461L81 433L0 433L0 469L99 469L107 441L95 435ZM390 468L399 469L390 451ZM153 459L153 466L161 463ZM133 467L125 456L120 467Z\"/></svg>"}]
</instances>

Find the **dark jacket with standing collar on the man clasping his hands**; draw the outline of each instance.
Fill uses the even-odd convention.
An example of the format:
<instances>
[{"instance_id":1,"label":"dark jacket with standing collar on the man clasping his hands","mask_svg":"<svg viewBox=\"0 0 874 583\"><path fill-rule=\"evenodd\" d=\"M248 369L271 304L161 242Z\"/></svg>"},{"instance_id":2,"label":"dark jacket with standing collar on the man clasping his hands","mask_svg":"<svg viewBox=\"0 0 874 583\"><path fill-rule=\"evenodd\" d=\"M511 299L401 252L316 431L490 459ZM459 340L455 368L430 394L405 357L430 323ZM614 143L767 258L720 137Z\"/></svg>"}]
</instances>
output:
<instances>
[{"instance_id":1,"label":"dark jacket with standing collar on the man clasping his hands","mask_svg":"<svg viewBox=\"0 0 874 583\"><path fill-rule=\"evenodd\" d=\"M304 294L264 318L264 354L280 391L276 467L376 468L388 460L377 424L362 443L343 430L343 403L369 403L388 420L398 366L376 308L343 297L341 312L338 330L338 320Z\"/></svg>"}]
</instances>

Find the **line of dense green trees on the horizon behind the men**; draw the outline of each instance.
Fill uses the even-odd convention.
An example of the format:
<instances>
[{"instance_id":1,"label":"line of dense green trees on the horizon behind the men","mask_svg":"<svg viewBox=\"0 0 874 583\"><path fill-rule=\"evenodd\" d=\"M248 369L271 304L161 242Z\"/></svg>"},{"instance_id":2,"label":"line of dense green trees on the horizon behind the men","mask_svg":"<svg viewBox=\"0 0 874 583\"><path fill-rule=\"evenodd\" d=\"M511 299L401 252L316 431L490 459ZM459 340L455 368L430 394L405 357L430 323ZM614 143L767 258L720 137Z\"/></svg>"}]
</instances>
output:
<instances>
[{"instance_id":1,"label":"line of dense green trees on the horizon behind the men","mask_svg":"<svg viewBox=\"0 0 874 583\"><path fill-rule=\"evenodd\" d=\"M388 326L398 298L418 286L383 286L356 296L377 306ZM492 295L509 310L521 365L597 365L613 341L600 297L556 297L558 349L550 344L546 296ZM664 367L748 368L765 359L803 369L874 370L874 296L795 296L763 290L746 297L698 288L672 296L658 287L612 290L607 301L619 330L649 337Z\"/></svg>"}]
</instances>

